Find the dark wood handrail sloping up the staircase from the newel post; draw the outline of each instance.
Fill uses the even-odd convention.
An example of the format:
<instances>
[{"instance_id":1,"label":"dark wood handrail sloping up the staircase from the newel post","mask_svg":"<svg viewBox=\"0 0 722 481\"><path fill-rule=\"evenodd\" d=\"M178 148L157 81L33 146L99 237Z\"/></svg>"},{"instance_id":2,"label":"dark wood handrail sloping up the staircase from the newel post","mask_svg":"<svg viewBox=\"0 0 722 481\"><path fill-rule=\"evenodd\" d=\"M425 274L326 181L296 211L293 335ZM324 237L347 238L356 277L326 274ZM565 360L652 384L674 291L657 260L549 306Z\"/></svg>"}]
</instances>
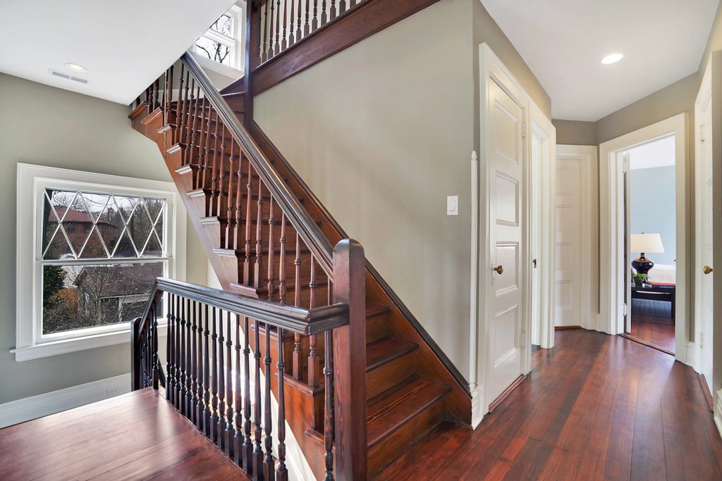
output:
<instances>
[{"instance_id":1,"label":"dark wood handrail sloping up the staircase from the newel post","mask_svg":"<svg viewBox=\"0 0 722 481\"><path fill-rule=\"evenodd\" d=\"M313 252L321 269L333 279L333 252L334 247L329 239L323 235L321 229L313 221L313 218L303 208L298 198L291 192L278 172L271 165L271 161L266 157L258 147L248 131L243 127L236 117L230 106L223 100L223 97L212 84L206 73L201 69L195 58L186 52L181 57L181 61L186 65L193 77L200 84L201 90L204 92L206 100L208 100L217 112L218 117L229 129L235 141L243 146L244 153L253 164L253 167L261 177L266 188L271 191L274 200L277 201L284 213L288 216L288 220L298 231L308 248Z\"/></svg>"}]
</instances>

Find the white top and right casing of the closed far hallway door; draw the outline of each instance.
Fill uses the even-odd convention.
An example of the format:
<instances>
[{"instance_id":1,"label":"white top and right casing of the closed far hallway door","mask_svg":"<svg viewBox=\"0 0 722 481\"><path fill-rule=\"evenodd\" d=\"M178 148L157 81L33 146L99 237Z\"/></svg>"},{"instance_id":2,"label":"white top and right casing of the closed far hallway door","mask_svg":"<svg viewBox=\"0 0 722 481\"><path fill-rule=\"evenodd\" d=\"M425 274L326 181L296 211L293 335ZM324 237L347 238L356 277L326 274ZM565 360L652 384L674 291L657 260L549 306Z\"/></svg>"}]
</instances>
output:
<instances>
[{"instance_id":1,"label":"white top and right casing of the closed far hallway door","mask_svg":"<svg viewBox=\"0 0 722 481\"><path fill-rule=\"evenodd\" d=\"M599 252L597 235L597 148L596 146L557 145L557 159L582 157L580 164L580 219L582 219L580 236L580 300L579 325L584 329L596 329L596 291L599 275L597 275L597 255ZM552 306L554 309L556 306ZM552 319L556 319L556 313Z\"/></svg>"}]
</instances>

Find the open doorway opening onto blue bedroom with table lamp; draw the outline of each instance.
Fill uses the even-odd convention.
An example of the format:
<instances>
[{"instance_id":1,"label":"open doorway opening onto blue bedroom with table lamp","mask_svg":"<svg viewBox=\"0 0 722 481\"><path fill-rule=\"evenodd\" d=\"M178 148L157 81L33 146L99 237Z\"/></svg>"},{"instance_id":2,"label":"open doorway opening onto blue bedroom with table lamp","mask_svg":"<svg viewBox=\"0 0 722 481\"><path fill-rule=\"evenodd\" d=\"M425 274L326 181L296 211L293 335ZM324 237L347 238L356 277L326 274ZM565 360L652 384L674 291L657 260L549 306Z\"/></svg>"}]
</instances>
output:
<instances>
[{"instance_id":1,"label":"open doorway opening onto blue bedroom with table lamp","mask_svg":"<svg viewBox=\"0 0 722 481\"><path fill-rule=\"evenodd\" d=\"M625 335L674 356L677 200L674 133L621 152L625 202Z\"/></svg>"}]
</instances>

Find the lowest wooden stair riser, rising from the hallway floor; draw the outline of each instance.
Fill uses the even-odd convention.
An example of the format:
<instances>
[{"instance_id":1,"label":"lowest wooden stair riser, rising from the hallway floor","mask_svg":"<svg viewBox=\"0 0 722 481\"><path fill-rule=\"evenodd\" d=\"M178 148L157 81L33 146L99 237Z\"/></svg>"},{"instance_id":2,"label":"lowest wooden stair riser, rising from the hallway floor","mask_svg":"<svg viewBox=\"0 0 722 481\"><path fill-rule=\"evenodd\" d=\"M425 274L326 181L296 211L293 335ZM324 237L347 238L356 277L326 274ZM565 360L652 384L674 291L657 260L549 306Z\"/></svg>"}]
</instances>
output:
<instances>
[{"instance_id":1,"label":"lowest wooden stair riser, rising from the hallway floor","mask_svg":"<svg viewBox=\"0 0 722 481\"><path fill-rule=\"evenodd\" d=\"M371 447L368 451L368 477L371 479L378 475L399 457L399 454L439 423L444 417L444 407L445 401L442 397Z\"/></svg>"}]
</instances>

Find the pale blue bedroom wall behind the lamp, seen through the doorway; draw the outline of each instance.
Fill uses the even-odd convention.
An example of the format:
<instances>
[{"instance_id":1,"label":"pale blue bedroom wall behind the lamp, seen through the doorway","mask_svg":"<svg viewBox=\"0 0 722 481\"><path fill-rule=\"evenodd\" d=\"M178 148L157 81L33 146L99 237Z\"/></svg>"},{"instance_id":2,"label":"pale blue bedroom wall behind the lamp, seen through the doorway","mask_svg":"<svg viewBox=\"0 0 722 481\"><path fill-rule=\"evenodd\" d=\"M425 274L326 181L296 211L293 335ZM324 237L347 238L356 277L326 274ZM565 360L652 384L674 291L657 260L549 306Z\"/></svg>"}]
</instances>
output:
<instances>
[{"instance_id":1,"label":"pale blue bedroom wall behind the lamp, seen through the doorway","mask_svg":"<svg viewBox=\"0 0 722 481\"><path fill-rule=\"evenodd\" d=\"M674 208L674 166L630 171L630 228L632 234L662 237L664 254L649 253L656 264L674 264L677 258L676 214ZM632 252L632 259L639 252Z\"/></svg>"}]
</instances>

